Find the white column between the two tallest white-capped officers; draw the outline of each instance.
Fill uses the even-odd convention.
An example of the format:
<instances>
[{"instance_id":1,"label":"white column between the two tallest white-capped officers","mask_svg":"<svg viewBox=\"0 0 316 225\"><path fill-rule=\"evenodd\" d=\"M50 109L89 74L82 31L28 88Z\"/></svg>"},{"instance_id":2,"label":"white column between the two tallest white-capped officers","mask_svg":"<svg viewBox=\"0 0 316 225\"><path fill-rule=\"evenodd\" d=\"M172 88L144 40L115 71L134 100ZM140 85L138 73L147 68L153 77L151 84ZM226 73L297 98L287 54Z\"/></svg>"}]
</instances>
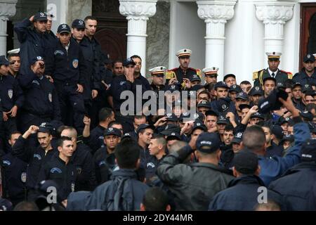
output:
<instances>
[{"instance_id":1,"label":"white column between the two tallest white-capped officers","mask_svg":"<svg viewBox=\"0 0 316 225\"><path fill-rule=\"evenodd\" d=\"M197 1L197 15L206 23L205 67L218 67L223 77L225 23L234 16L236 0Z\"/></svg>"}]
</instances>

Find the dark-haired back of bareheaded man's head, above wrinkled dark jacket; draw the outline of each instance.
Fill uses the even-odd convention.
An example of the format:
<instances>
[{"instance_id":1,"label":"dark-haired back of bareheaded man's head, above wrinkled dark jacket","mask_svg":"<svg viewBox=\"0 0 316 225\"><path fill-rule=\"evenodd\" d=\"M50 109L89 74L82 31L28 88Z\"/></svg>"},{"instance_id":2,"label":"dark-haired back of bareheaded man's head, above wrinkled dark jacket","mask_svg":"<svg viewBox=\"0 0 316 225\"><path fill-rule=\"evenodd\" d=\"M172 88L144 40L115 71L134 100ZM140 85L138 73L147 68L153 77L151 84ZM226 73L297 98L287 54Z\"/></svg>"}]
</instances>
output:
<instances>
[{"instance_id":1,"label":"dark-haired back of bareheaded man's head, above wrinkled dark jacket","mask_svg":"<svg viewBox=\"0 0 316 225\"><path fill-rule=\"evenodd\" d=\"M115 148L114 154L120 169L136 169L140 162L140 146L132 139L124 139Z\"/></svg>"}]
</instances>

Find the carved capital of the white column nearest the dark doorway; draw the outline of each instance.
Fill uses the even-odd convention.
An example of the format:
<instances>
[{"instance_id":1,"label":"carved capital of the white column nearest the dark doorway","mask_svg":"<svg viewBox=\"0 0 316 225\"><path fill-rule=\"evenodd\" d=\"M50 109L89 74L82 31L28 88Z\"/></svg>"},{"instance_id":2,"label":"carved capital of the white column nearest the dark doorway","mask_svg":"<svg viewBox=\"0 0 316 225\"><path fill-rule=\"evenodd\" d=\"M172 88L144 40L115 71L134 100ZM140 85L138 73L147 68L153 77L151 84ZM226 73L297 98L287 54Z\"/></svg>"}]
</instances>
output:
<instances>
[{"instance_id":1,"label":"carved capital of the white column nearest the dark doorway","mask_svg":"<svg viewBox=\"0 0 316 225\"><path fill-rule=\"evenodd\" d=\"M156 4L157 0L119 0L119 13L127 19L136 17L147 20L156 13Z\"/></svg>"}]
</instances>

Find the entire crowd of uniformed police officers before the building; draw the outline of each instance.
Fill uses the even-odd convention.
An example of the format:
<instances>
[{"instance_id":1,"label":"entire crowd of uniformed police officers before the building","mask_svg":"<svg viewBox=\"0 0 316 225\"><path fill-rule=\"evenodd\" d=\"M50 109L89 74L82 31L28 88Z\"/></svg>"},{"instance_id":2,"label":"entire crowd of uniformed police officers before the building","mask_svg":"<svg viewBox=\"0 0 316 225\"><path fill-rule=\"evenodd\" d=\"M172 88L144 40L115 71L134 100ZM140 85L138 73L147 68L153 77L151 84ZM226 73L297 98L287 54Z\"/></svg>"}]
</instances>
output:
<instances>
[{"instance_id":1,"label":"entire crowd of uniformed police officers before the building","mask_svg":"<svg viewBox=\"0 0 316 225\"><path fill-rule=\"evenodd\" d=\"M140 56L110 60L96 18L61 24L56 36L51 25L46 13L17 23L20 49L0 56L6 209L139 210L158 186L169 210L315 210L315 55L293 76L279 69L281 53L268 52L253 86L190 68L192 51L181 49L179 67L150 69L150 84ZM268 203L257 204L260 186Z\"/></svg>"}]
</instances>

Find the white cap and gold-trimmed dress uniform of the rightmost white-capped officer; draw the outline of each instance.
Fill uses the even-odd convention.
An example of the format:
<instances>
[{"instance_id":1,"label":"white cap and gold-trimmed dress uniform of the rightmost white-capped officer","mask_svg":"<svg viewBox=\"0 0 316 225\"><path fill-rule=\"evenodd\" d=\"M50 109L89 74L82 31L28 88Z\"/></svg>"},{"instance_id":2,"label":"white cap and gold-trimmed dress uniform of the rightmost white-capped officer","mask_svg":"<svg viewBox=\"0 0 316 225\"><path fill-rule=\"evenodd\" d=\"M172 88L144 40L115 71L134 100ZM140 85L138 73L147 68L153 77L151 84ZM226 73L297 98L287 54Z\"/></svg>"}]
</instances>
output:
<instances>
[{"instance_id":1,"label":"white cap and gold-trimmed dress uniform of the rightmost white-capped officer","mask_svg":"<svg viewBox=\"0 0 316 225\"><path fill-rule=\"evenodd\" d=\"M267 52L265 54L268 56L268 60L272 60L272 59L279 60L280 56L282 55L282 53L277 53L277 52L271 52L271 53ZM254 86L262 86L263 79L267 77L272 77L272 75L270 75L268 71L268 68L254 72L253 77L252 77L252 79L254 80ZM274 78L277 80L277 84L279 83L284 84L284 82L286 82L287 79L292 79L292 77L293 77L293 74L291 72L286 72L284 70L278 69L275 72Z\"/></svg>"}]
</instances>

